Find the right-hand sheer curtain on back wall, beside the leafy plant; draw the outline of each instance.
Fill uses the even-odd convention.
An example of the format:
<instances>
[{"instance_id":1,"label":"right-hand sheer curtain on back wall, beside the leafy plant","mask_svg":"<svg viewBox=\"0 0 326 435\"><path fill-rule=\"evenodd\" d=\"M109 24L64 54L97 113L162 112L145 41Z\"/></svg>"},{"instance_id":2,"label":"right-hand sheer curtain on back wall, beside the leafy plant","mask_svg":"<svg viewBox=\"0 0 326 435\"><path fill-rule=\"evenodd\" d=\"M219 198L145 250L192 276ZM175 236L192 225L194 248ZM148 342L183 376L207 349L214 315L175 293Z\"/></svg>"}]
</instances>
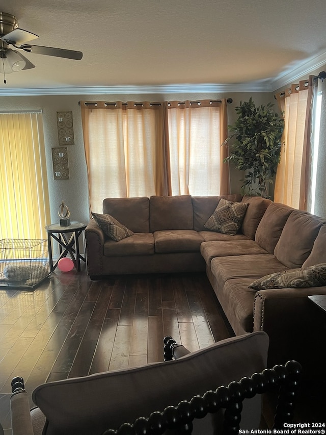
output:
<instances>
[{"instance_id":1,"label":"right-hand sheer curtain on back wall, beside the leafy plant","mask_svg":"<svg viewBox=\"0 0 326 435\"><path fill-rule=\"evenodd\" d=\"M168 104L172 195L229 193L225 107L225 100Z\"/></svg>"}]
</instances>

